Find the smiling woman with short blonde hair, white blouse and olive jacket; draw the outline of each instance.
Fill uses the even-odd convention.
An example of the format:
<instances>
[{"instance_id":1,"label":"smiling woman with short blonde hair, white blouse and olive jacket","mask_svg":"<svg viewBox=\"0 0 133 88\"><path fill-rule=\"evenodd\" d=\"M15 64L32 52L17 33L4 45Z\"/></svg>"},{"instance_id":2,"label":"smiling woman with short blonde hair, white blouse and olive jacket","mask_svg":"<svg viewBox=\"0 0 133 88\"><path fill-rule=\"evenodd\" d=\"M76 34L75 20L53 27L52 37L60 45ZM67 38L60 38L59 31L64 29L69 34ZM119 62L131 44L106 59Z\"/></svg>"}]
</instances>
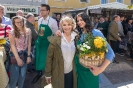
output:
<instances>
[{"instance_id":1,"label":"smiling woman with short blonde hair, white blouse and olive jacket","mask_svg":"<svg viewBox=\"0 0 133 88\"><path fill-rule=\"evenodd\" d=\"M77 35L73 31L75 27L76 23L73 18L63 16L60 21L62 36L48 38L50 45L42 87L51 83L53 88L76 88L74 85L76 73L73 66L76 51L74 39Z\"/></svg>"}]
</instances>

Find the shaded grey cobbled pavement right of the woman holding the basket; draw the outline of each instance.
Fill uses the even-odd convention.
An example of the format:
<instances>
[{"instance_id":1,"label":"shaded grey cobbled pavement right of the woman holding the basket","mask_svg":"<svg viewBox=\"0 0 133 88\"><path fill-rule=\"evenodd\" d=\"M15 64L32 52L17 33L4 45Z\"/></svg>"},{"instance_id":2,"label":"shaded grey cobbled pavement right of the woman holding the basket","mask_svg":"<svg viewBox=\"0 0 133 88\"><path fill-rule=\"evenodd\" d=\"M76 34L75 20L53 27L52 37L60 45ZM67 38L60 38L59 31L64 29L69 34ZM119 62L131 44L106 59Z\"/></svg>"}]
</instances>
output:
<instances>
[{"instance_id":1,"label":"shaded grey cobbled pavement right of the woman holding the basket","mask_svg":"<svg viewBox=\"0 0 133 88\"><path fill-rule=\"evenodd\" d=\"M104 75L112 84L133 81L133 61L127 61L127 57L116 56L119 64L112 63L104 71Z\"/></svg>"}]
</instances>

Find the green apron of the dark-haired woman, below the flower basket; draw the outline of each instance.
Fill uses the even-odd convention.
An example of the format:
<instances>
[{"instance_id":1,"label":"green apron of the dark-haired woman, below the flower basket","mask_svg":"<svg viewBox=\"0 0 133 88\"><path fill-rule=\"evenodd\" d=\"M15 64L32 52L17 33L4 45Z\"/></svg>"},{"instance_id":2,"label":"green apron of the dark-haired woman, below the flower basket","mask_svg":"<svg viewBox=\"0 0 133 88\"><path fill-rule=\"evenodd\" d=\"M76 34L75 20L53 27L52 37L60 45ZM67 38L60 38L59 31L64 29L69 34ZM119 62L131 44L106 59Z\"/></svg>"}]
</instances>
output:
<instances>
[{"instance_id":1,"label":"green apron of the dark-haired woman, below the flower basket","mask_svg":"<svg viewBox=\"0 0 133 88\"><path fill-rule=\"evenodd\" d=\"M88 68L79 63L78 52L74 61L76 63L77 88L99 88L99 77L94 76Z\"/></svg>"}]
</instances>

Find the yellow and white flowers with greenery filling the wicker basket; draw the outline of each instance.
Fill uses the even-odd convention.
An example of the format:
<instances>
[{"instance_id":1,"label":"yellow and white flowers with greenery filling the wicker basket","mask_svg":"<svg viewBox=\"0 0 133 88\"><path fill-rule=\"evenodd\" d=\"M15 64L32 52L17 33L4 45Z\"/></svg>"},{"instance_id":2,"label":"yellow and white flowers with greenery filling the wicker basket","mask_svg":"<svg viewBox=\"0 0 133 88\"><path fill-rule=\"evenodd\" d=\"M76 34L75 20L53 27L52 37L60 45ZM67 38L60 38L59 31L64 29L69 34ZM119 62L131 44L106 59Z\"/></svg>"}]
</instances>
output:
<instances>
[{"instance_id":1,"label":"yellow and white flowers with greenery filling the wicker basket","mask_svg":"<svg viewBox=\"0 0 133 88\"><path fill-rule=\"evenodd\" d=\"M92 34L87 34L84 43L78 45L80 54L99 54L107 51L106 39L100 36L94 37Z\"/></svg>"}]
</instances>

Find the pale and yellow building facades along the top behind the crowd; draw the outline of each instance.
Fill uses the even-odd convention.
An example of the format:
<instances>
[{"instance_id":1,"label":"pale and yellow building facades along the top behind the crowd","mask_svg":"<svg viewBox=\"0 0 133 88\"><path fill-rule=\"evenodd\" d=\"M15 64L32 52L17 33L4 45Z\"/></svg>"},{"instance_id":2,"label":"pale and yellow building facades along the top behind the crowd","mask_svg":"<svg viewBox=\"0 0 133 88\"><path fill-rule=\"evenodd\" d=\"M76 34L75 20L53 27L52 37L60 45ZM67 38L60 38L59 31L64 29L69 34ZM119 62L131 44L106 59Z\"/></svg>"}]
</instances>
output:
<instances>
[{"instance_id":1,"label":"pale and yellow building facades along the top behind the crowd","mask_svg":"<svg viewBox=\"0 0 133 88\"><path fill-rule=\"evenodd\" d=\"M1 0L1 4L5 6L5 13L8 17L16 15L18 9L23 10L25 14L31 12L38 15L40 11L39 6L43 3L50 5L50 16L53 16L66 10L80 9L110 2L131 5L133 0Z\"/></svg>"}]
</instances>

